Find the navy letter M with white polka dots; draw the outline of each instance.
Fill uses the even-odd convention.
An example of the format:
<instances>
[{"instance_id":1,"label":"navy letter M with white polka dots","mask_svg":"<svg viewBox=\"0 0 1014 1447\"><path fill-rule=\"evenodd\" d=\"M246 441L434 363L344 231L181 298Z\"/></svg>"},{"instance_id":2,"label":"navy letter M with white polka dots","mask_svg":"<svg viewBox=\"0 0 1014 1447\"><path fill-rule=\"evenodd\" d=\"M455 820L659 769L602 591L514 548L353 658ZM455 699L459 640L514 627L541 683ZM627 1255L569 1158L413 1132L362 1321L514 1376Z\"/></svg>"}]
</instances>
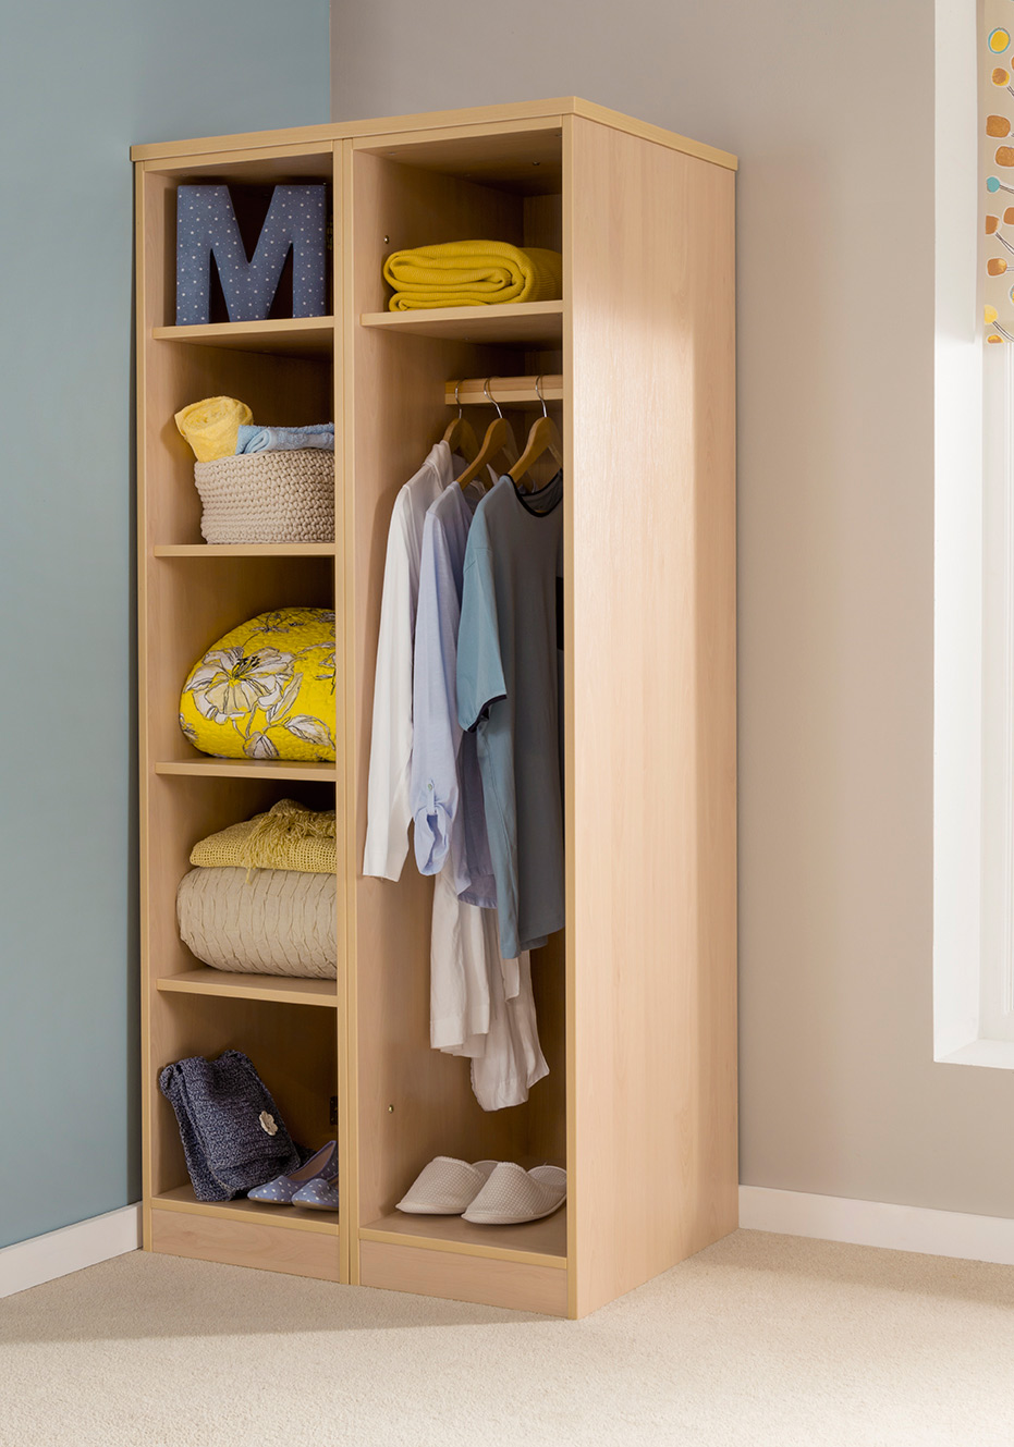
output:
<instances>
[{"instance_id":1,"label":"navy letter M with white polka dots","mask_svg":"<svg viewBox=\"0 0 1014 1447\"><path fill-rule=\"evenodd\" d=\"M292 247L292 315L324 314L325 188L276 185L247 260L229 187L176 190L176 326L210 320L211 256L230 321L263 321Z\"/></svg>"}]
</instances>

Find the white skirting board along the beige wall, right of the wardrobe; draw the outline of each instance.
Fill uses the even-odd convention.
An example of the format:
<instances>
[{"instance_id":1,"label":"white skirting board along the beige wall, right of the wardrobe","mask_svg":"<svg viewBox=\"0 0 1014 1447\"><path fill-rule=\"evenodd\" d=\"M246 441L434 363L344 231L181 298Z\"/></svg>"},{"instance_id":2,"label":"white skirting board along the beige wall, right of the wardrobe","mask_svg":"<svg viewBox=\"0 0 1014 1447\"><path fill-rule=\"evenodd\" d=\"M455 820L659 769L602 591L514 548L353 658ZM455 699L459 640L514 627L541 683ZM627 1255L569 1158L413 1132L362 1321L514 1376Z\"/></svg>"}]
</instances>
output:
<instances>
[{"instance_id":1,"label":"white skirting board along the beige wall, right of the wardrobe","mask_svg":"<svg viewBox=\"0 0 1014 1447\"><path fill-rule=\"evenodd\" d=\"M924 1256L958 1256L1014 1266L1014 1220L923 1205L849 1201L836 1195L739 1187L739 1224L749 1231L811 1236L852 1246L887 1246Z\"/></svg>"}]
</instances>

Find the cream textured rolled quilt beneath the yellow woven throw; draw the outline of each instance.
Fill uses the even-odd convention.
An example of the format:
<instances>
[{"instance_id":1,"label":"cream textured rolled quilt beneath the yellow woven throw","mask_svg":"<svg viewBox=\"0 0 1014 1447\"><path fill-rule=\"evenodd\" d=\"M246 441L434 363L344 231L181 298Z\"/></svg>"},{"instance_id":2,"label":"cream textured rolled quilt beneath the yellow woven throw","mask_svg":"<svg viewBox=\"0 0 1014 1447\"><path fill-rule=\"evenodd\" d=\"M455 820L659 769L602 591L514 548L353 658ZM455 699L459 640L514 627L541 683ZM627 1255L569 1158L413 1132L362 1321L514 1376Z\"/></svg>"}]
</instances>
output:
<instances>
[{"instance_id":1,"label":"cream textured rolled quilt beneath the yellow woven throw","mask_svg":"<svg viewBox=\"0 0 1014 1447\"><path fill-rule=\"evenodd\" d=\"M214 969L337 974L337 883L302 870L191 870L176 891L179 938Z\"/></svg>"}]
</instances>

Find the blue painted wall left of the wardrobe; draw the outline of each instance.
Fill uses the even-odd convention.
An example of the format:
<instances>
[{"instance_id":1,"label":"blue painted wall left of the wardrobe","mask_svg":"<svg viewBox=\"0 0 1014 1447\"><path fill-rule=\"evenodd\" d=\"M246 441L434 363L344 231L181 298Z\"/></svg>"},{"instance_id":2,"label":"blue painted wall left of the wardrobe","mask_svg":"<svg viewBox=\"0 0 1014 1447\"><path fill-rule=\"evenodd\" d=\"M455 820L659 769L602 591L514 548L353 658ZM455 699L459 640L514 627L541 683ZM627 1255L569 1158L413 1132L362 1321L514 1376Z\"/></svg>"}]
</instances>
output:
<instances>
[{"instance_id":1,"label":"blue painted wall left of the wardrobe","mask_svg":"<svg viewBox=\"0 0 1014 1447\"><path fill-rule=\"evenodd\" d=\"M328 119L327 0L0 48L0 1247L139 1195L129 146Z\"/></svg>"}]
</instances>

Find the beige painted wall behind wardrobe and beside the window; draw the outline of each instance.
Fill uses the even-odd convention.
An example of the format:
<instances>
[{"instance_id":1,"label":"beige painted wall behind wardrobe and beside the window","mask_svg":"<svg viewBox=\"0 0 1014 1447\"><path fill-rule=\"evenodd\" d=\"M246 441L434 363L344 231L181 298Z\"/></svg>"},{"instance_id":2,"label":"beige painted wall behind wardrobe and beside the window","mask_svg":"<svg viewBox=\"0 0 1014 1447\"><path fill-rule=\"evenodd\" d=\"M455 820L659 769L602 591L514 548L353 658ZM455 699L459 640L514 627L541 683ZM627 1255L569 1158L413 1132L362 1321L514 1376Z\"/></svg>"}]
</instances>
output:
<instances>
[{"instance_id":1,"label":"beige painted wall behind wardrobe and beside the window","mask_svg":"<svg viewBox=\"0 0 1014 1447\"><path fill-rule=\"evenodd\" d=\"M741 156L741 1175L1014 1214L1014 1074L932 1059L933 6L331 33L336 119L577 94Z\"/></svg>"}]
</instances>

